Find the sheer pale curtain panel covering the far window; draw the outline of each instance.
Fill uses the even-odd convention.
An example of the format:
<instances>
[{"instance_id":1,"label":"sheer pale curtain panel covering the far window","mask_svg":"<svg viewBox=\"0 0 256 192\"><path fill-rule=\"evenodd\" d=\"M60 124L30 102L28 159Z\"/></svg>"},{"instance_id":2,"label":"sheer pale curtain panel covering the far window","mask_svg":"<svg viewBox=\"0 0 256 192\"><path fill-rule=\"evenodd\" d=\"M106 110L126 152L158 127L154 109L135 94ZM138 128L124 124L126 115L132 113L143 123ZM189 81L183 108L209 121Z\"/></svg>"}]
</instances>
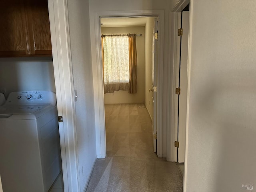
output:
<instances>
[{"instance_id":1,"label":"sheer pale curtain panel covering the far window","mask_svg":"<svg viewBox=\"0 0 256 192\"><path fill-rule=\"evenodd\" d=\"M127 35L102 35L104 93L129 89L129 38Z\"/></svg>"}]
</instances>

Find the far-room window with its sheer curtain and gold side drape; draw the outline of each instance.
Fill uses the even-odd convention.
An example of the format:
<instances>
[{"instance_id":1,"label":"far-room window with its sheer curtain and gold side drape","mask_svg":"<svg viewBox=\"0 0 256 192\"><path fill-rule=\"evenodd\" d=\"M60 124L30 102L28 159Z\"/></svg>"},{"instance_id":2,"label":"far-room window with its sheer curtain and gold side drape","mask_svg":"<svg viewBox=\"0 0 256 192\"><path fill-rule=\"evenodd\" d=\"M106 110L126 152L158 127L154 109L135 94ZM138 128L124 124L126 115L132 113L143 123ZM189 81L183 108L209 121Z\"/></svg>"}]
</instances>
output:
<instances>
[{"instance_id":1,"label":"far-room window with its sheer curtain and gold side drape","mask_svg":"<svg viewBox=\"0 0 256 192\"><path fill-rule=\"evenodd\" d=\"M104 93L137 92L136 34L102 35Z\"/></svg>"}]
</instances>

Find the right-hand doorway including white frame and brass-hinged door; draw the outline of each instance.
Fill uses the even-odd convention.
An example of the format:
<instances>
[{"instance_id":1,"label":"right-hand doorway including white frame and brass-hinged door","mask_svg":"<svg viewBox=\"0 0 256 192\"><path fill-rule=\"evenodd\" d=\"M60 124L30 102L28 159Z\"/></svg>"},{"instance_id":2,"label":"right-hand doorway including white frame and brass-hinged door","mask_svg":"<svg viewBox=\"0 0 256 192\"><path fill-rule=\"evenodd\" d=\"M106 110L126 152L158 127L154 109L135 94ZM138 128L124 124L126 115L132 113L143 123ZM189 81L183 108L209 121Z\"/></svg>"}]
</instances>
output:
<instances>
[{"instance_id":1,"label":"right-hand doorway including white frame and brass-hinged door","mask_svg":"<svg viewBox=\"0 0 256 192\"><path fill-rule=\"evenodd\" d=\"M184 13L182 21L182 11L189 10L189 0L180 0L176 6L170 12L171 20L171 61L172 68L170 68L170 73L172 73L172 83L170 84L170 89L172 90L170 98L171 102L169 105L170 109L170 119L167 140L167 160L177 162L180 166L184 180L186 179L186 156L185 156L185 146L186 146L186 98L187 98L187 53L188 53L188 30L189 30L189 13ZM185 19L186 18L186 19ZM184 20L185 19L185 20ZM179 36L179 29L183 29L183 35ZM182 40L183 41L182 41ZM185 43L185 44L182 44ZM184 49L184 50L181 50ZM184 54L185 53L185 54ZM180 64L182 61L183 64ZM180 82L180 79L182 81ZM185 84L184 84L185 83ZM182 86L182 88L180 87ZM176 89L181 88L181 89ZM177 91L177 92L176 92ZM177 93L177 94L176 94ZM179 102L179 96L181 102ZM185 102L184 102L185 101ZM179 108L179 104L182 108ZM178 110L181 109L180 117L178 116ZM183 112L182 112L183 111ZM182 115L183 116L182 116ZM182 125L182 130L178 130L178 124ZM180 137L180 139L179 139ZM181 146L181 148L180 148ZM178 159L179 156L179 159ZM181 163L179 163L181 162ZM185 163L185 164L184 164Z\"/></svg>"}]
</instances>

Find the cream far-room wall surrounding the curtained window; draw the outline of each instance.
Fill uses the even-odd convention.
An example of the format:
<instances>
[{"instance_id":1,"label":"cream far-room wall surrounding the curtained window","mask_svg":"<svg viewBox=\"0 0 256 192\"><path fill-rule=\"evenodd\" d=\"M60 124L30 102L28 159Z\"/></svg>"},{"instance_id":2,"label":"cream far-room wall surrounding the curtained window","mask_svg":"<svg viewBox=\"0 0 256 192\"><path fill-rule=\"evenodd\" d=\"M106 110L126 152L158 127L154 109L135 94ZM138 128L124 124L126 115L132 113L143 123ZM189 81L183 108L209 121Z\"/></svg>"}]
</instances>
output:
<instances>
[{"instance_id":1,"label":"cream far-room wall surrounding the curtained window","mask_svg":"<svg viewBox=\"0 0 256 192\"><path fill-rule=\"evenodd\" d=\"M114 93L104 94L105 104L113 103L144 103L145 102L145 27L102 27L102 34L142 34L136 36L137 48L137 93L130 94L128 91L115 91Z\"/></svg>"}]
</instances>

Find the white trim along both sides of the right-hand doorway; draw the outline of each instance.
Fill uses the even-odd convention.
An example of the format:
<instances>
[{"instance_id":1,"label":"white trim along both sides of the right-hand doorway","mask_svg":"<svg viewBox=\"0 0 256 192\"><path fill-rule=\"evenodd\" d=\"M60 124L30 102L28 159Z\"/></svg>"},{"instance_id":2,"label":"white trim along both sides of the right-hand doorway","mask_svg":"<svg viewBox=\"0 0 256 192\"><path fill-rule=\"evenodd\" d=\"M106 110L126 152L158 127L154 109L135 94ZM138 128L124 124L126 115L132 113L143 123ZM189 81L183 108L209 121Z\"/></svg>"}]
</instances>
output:
<instances>
[{"instance_id":1,"label":"white trim along both sides of the right-hand doorway","mask_svg":"<svg viewBox=\"0 0 256 192\"><path fill-rule=\"evenodd\" d=\"M174 141L176 140L177 135L177 100L175 96L175 88L176 88L176 80L177 80L177 63L179 62L180 55L177 53L177 50L180 46L180 38L177 36L177 30L178 30L178 20L179 20L179 15L178 12L181 12L186 5L190 3L190 21L192 20L191 15L192 15L192 4L193 0L179 0L176 6L173 8L172 12L170 12L170 20L171 20L171 26L170 26L170 34L171 34L171 52L170 52L170 65L171 67L169 68L169 74L172 74L172 80L169 84L170 92L168 97L170 98L170 102L168 103L168 114L170 115L170 119L168 123L168 129L167 129L167 148L166 148L166 153L167 153L167 160L168 161L177 161L177 148L174 147ZM191 22L189 24L189 37L191 36L191 30L192 25ZM188 104L189 104L189 87L190 87L190 58L191 58L191 39L188 38L188 100L187 100L187 117L188 117ZM171 94L171 95L170 95ZM184 163L184 180L183 180L183 192L186 192L186 182L187 182L187 154L188 154L188 148L187 148L187 140L188 140L188 118L186 120L186 149L185 149L185 163Z\"/></svg>"}]
</instances>

